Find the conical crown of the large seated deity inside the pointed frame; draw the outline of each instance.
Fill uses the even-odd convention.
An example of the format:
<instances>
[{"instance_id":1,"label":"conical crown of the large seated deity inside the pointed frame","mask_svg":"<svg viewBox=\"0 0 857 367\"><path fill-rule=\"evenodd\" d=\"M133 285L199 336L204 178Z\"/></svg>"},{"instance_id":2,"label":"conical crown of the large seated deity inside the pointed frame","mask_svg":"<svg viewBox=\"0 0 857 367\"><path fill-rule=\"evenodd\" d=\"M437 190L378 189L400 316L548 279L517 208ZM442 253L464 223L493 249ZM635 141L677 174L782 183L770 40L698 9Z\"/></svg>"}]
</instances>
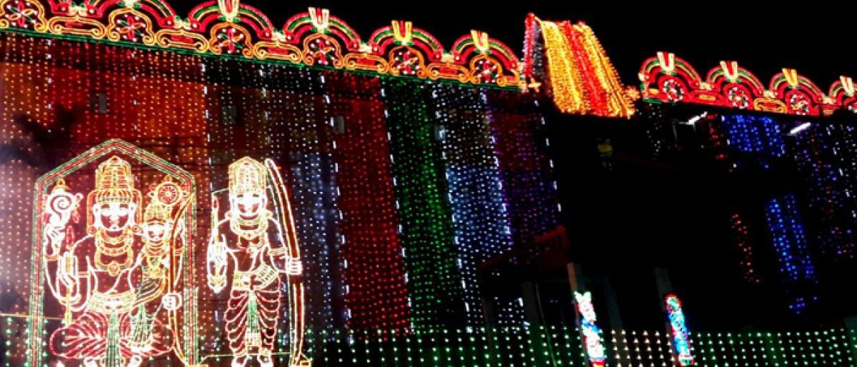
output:
<instances>
[{"instance_id":1,"label":"conical crown of the large seated deity inside the pointed frame","mask_svg":"<svg viewBox=\"0 0 857 367\"><path fill-rule=\"evenodd\" d=\"M140 190L134 188L131 165L115 155L102 162L95 171L95 190L90 196L96 204L139 203Z\"/></svg>"}]
</instances>

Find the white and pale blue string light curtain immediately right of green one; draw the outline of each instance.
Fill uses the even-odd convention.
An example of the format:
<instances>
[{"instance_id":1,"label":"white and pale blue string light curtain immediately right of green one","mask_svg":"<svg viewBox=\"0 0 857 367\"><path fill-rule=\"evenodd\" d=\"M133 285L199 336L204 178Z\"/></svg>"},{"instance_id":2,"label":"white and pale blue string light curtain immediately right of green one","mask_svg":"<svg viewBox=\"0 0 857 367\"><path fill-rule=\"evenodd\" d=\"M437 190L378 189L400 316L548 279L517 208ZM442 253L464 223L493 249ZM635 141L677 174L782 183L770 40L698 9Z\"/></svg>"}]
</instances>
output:
<instances>
[{"instance_id":1,"label":"white and pale blue string light curtain immediately right of green one","mask_svg":"<svg viewBox=\"0 0 857 367\"><path fill-rule=\"evenodd\" d=\"M497 303L498 325L511 326L524 321L523 304L488 298L478 281L479 264L512 248L486 99L479 89L445 84L432 89L435 123L444 132L440 141L468 324L483 324L482 298L487 298Z\"/></svg>"}]
</instances>

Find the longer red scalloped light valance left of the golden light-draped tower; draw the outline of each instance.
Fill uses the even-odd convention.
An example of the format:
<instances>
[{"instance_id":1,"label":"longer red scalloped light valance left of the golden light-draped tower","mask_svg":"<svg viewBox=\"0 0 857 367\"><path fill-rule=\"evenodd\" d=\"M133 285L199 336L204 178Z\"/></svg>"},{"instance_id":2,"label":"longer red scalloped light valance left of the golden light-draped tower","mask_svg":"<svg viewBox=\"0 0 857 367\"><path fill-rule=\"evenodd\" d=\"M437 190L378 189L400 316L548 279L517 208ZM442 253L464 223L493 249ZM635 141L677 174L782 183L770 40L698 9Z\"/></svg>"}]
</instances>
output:
<instances>
[{"instance_id":1,"label":"longer red scalloped light valance left of the golden light-draped tower","mask_svg":"<svg viewBox=\"0 0 857 367\"><path fill-rule=\"evenodd\" d=\"M410 21L393 21L363 42L327 9L309 8L279 28L238 0L201 3L187 19L159 0L0 0L0 29L476 85L523 84L518 57L487 33L471 31L446 51Z\"/></svg>"}]
</instances>

